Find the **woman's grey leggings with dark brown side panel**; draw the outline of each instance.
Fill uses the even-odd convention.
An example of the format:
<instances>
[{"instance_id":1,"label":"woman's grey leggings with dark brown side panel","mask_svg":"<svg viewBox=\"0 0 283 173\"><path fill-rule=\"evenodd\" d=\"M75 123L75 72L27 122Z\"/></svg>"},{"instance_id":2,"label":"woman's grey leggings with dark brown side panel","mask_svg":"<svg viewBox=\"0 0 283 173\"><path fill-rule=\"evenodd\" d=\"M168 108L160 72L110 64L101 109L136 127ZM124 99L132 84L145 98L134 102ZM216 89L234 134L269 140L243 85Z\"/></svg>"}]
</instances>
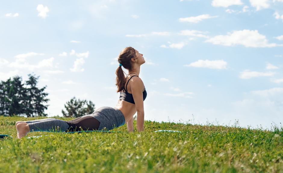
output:
<instances>
[{"instance_id":1,"label":"woman's grey leggings with dark brown side panel","mask_svg":"<svg viewBox=\"0 0 283 173\"><path fill-rule=\"evenodd\" d=\"M76 118L71 121L61 119L48 118L34 121L27 121L30 132L32 131L80 131L86 130L111 130L125 124L123 113L112 107L101 107L95 110L92 114Z\"/></svg>"}]
</instances>

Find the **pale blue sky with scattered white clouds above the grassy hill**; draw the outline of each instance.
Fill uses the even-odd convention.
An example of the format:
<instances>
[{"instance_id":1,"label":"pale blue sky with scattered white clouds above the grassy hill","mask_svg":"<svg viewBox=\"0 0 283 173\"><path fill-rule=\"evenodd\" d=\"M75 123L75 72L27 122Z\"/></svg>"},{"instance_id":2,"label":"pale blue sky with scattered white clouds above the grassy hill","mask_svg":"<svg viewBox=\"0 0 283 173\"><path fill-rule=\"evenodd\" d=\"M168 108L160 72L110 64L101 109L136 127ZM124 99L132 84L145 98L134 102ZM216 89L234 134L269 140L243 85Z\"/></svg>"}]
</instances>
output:
<instances>
[{"instance_id":1,"label":"pale blue sky with scattered white clouds above the grassy hill","mask_svg":"<svg viewBox=\"0 0 283 173\"><path fill-rule=\"evenodd\" d=\"M115 107L127 46L146 60L146 120L283 123L283 0L0 2L0 80L40 76L48 116L74 96Z\"/></svg>"}]
</instances>

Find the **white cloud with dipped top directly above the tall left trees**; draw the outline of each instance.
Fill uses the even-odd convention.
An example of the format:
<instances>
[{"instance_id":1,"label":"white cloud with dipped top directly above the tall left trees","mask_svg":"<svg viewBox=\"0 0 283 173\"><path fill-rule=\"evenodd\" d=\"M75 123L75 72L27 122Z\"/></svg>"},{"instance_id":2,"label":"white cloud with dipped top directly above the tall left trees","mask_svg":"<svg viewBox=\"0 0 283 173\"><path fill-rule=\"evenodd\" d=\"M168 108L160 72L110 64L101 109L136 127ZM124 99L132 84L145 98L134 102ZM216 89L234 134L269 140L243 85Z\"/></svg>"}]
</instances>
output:
<instances>
[{"instance_id":1,"label":"white cloud with dipped top directly above the tall left trees","mask_svg":"<svg viewBox=\"0 0 283 173\"><path fill-rule=\"evenodd\" d=\"M17 69L26 69L26 70L34 70L40 69L43 67L52 67L53 66L54 57L49 59L43 59L37 65L31 65L24 58L18 58L15 62L11 62L8 66L17 68Z\"/></svg>"}]
</instances>

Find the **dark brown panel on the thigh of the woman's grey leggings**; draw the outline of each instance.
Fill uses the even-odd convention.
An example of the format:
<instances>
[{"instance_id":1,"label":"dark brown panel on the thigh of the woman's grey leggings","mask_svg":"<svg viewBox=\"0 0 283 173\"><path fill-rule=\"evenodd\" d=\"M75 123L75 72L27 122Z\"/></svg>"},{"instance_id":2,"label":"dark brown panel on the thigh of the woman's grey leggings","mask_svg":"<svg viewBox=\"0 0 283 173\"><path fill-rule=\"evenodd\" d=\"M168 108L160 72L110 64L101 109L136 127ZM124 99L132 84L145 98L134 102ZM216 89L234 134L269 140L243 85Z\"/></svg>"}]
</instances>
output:
<instances>
[{"instance_id":1,"label":"dark brown panel on the thigh of the woman's grey leggings","mask_svg":"<svg viewBox=\"0 0 283 173\"><path fill-rule=\"evenodd\" d=\"M100 125L100 122L92 116L81 116L81 118L79 117L79 119L74 120L75 121L67 121L69 125L68 131L97 130Z\"/></svg>"}]
</instances>

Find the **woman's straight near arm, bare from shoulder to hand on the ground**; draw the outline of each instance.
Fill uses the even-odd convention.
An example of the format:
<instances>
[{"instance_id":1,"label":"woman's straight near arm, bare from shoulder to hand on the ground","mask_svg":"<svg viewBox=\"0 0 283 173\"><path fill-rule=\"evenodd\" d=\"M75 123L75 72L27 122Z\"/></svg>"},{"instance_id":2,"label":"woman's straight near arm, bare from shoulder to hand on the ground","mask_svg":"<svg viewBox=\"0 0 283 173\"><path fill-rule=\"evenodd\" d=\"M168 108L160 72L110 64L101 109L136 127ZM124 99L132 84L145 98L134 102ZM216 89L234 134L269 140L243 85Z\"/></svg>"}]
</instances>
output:
<instances>
[{"instance_id":1,"label":"woman's straight near arm, bare from shoulder to hand on the ground","mask_svg":"<svg viewBox=\"0 0 283 173\"><path fill-rule=\"evenodd\" d=\"M135 107L137 109L137 128L138 131L144 131L144 122L145 122L145 111L144 111L144 100L142 91L144 85L142 79L134 78L132 79L131 91L135 101Z\"/></svg>"}]
</instances>

